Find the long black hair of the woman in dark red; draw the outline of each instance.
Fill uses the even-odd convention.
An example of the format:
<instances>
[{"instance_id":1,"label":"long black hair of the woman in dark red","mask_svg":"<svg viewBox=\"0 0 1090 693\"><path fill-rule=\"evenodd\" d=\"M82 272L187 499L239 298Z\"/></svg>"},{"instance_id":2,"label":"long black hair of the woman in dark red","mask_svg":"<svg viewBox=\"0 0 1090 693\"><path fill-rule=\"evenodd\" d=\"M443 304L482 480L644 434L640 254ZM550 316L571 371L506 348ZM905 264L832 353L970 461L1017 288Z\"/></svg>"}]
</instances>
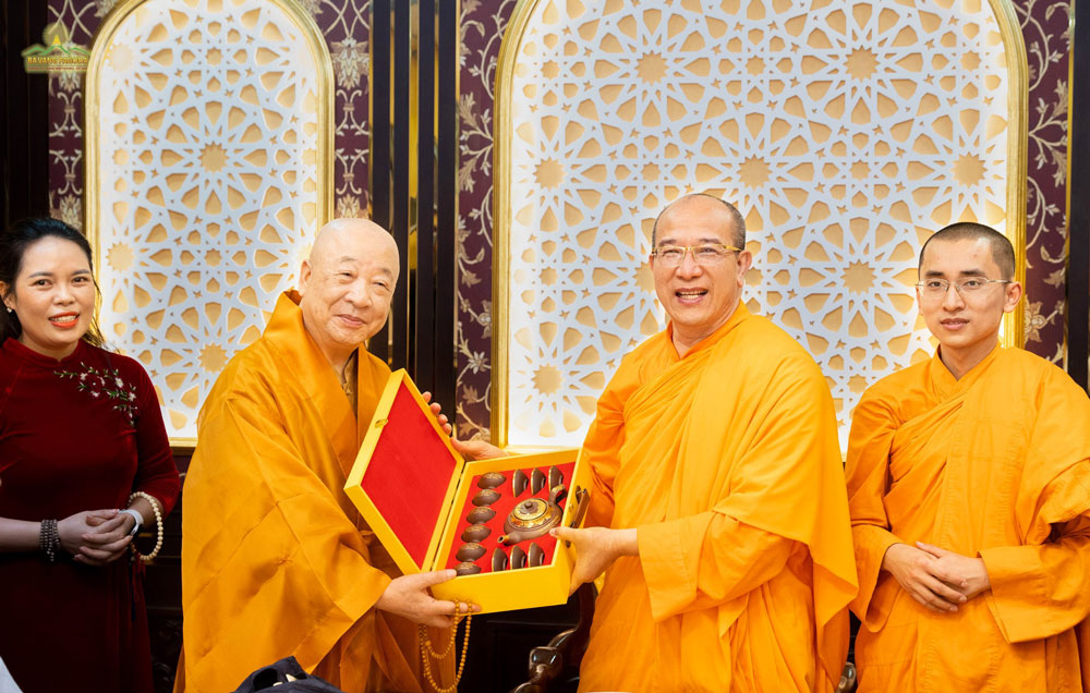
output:
<instances>
[{"instance_id":1,"label":"long black hair of the woman in dark red","mask_svg":"<svg viewBox=\"0 0 1090 693\"><path fill-rule=\"evenodd\" d=\"M60 219L49 217L20 219L8 227L3 235L0 235L0 282L3 282L7 288L4 299L15 293L15 279L23 268L23 257L26 255L26 251L38 241L47 238L58 238L78 245L83 254L87 256L87 266L94 273L95 263L92 258L90 244L87 243L86 236L82 233ZM97 283L95 289L98 290ZM22 333L23 326L19 324L19 317L15 313L0 309L0 343L7 341L9 337L19 339ZM90 317L90 326L87 328L87 333L83 336L83 341L95 346L102 345L102 335L98 330L98 321L95 316Z\"/></svg>"}]
</instances>

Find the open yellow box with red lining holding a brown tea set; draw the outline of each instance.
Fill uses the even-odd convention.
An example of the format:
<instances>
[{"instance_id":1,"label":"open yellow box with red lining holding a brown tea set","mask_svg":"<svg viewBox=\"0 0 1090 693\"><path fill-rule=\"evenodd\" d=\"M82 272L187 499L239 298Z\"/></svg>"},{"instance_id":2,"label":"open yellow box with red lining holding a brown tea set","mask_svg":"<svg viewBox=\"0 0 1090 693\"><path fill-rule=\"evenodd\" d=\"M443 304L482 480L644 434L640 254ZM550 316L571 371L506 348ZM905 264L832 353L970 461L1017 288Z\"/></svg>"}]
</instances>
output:
<instances>
[{"instance_id":1,"label":"open yellow box with red lining holding a brown tea set","mask_svg":"<svg viewBox=\"0 0 1090 693\"><path fill-rule=\"evenodd\" d=\"M528 488L516 495L518 470L528 478L541 470L538 479L552 472L554 481L561 478L566 495L554 507L548 502L547 482L536 491L528 483ZM479 494L487 489L479 482L489 472L500 473L505 481L492 489L499 498L483 503L486 495ZM404 574L456 567L460 562L456 554L469 543L462 533L473 524L485 525L488 535L475 542L484 552L473 561L481 572L459 575L432 587L432 593L438 599L476 604L487 613L567 601L573 549L547 533L508 546L499 539L511 534L505 531L505 520L517 506L559 511L559 524L579 526L590 502L590 481L589 465L582 463L576 449L462 460L401 369L386 384L344 491ZM469 520L481 506L494 510L494 516L483 522ZM482 532L480 527L476 531ZM516 547L529 554L534 544L540 566L510 567ZM497 550L502 556L497 556ZM494 559L506 559L506 566L493 570Z\"/></svg>"}]
</instances>

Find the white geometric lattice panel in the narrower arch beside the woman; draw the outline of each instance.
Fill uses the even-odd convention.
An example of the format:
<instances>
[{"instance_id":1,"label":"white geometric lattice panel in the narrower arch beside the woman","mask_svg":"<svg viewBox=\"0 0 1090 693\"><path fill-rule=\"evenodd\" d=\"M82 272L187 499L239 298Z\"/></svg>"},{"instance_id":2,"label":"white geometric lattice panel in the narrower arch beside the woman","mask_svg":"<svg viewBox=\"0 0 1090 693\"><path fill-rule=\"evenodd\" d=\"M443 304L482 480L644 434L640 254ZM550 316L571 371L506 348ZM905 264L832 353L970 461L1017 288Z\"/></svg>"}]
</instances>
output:
<instances>
[{"instance_id":1,"label":"white geometric lattice panel in the narrower arch beside the woman","mask_svg":"<svg viewBox=\"0 0 1090 693\"><path fill-rule=\"evenodd\" d=\"M194 439L328 216L329 57L275 2L152 0L111 19L88 75L100 321L148 368L168 433Z\"/></svg>"}]
</instances>

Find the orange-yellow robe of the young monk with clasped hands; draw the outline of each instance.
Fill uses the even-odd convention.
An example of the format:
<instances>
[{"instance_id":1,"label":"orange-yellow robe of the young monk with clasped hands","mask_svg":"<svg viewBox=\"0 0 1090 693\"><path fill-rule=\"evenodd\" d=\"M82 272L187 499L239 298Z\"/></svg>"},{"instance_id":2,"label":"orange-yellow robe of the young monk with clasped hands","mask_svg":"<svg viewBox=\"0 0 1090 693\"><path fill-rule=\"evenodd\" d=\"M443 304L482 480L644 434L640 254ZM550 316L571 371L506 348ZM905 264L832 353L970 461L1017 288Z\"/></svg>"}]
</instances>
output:
<instances>
[{"instance_id":1,"label":"orange-yellow robe of the young monk with clasped hands","mask_svg":"<svg viewBox=\"0 0 1090 693\"><path fill-rule=\"evenodd\" d=\"M936 354L880 380L848 448L859 691L1081 690L1090 612L1090 400L1019 349L960 380ZM881 570L895 543L984 560L991 591L938 613Z\"/></svg>"}]
</instances>

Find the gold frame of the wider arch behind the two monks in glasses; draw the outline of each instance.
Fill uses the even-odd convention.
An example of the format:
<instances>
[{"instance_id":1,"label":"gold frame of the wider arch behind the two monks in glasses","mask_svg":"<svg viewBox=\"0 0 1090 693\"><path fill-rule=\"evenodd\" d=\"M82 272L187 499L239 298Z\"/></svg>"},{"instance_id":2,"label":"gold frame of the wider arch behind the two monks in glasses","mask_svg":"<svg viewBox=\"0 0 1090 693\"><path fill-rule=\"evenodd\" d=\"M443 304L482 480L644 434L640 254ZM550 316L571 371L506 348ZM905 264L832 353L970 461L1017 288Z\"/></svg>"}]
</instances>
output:
<instances>
[{"instance_id":1,"label":"gold frame of the wider arch behind the two monks in glasses","mask_svg":"<svg viewBox=\"0 0 1090 693\"><path fill-rule=\"evenodd\" d=\"M509 390L507 332L510 325L511 180L510 151L514 131L510 84L519 47L531 16L542 0L519 0L499 48L496 65L496 106L493 144L493 350L492 350L492 441L507 445ZM1000 28L1007 69L1007 206L1006 235L1015 247L1015 278L1026 284L1026 185L1029 146L1029 63L1021 25L1012 0L988 0ZM1026 342L1025 311L1019 306L1003 316L1000 341L1004 346Z\"/></svg>"}]
</instances>

